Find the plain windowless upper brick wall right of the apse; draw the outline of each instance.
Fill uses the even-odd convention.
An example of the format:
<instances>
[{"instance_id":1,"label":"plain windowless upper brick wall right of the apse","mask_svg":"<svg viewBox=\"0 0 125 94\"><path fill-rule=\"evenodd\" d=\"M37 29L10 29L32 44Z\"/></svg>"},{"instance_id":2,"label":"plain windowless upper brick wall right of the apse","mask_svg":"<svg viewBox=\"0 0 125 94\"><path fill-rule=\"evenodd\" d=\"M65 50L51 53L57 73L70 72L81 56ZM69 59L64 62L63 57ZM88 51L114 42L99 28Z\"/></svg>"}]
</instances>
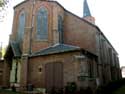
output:
<instances>
[{"instance_id":1,"label":"plain windowless upper brick wall right of the apse","mask_svg":"<svg viewBox=\"0 0 125 94\"><path fill-rule=\"evenodd\" d=\"M96 29L78 17L65 12L64 42L96 53Z\"/></svg>"}]
</instances>

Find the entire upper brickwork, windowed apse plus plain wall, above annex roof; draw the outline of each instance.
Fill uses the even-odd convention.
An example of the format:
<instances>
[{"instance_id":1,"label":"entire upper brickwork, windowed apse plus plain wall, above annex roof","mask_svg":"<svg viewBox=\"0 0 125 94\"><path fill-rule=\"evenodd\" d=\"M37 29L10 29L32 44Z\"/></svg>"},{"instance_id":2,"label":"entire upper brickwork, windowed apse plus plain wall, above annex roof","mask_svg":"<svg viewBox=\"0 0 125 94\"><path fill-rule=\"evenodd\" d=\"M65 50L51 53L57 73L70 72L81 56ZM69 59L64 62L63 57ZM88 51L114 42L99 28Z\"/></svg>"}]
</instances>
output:
<instances>
[{"instance_id":1,"label":"entire upper brickwork, windowed apse plus plain wall, above annex roof","mask_svg":"<svg viewBox=\"0 0 125 94\"><path fill-rule=\"evenodd\" d=\"M41 6L46 7L48 10L48 39L39 41L36 39L36 15L37 15L37 11ZM64 12L64 9L54 2L36 1L34 8L33 8L32 0L29 0L25 3L18 5L15 8L15 12L14 12L15 14L14 14L14 21L13 21L12 39L16 40L15 38L18 30L19 14L23 10L26 12L25 32L26 31L29 32L29 33L25 33L25 34L28 34L25 36L27 36L28 39L32 37L32 42L31 42L32 52L38 51L42 48L46 48L54 43L57 43L59 38L57 33L58 15L61 15L64 19L63 21L64 22L64 29L63 29L64 43L77 45L92 53L96 53L95 27L89 25L88 23L82 21L81 19L70 14L67 11ZM32 22L33 22L33 29L32 29L32 36L30 36L29 34L31 32ZM27 39L24 38L23 43L24 43L23 44L24 46L22 50L28 50L30 40L27 41ZM26 45L28 46L25 47Z\"/></svg>"}]
</instances>

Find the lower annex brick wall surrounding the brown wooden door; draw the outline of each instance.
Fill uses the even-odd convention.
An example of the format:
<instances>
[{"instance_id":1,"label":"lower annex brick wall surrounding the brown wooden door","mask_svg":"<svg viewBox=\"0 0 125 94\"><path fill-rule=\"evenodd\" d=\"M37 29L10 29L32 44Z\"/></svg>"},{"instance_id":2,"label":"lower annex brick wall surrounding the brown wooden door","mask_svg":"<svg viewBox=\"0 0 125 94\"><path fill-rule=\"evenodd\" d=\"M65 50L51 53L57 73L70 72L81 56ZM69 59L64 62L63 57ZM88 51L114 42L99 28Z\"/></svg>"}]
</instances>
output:
<instances>
[{"instance_id":1,"label":"lower annex brick wall surrounding the brown wooden door","mask_svg":"<svg viewBox=\"0 0 125 94\"><path fill-rule=\"evenodd\" d=\"M28 82L35 85L35 87L45 87L45 64L61 62L63 63L63 76L64 86L67 82L77 81L77 61L74 59L74 55L79 55L80 52L71 52L49 56L39 56L29 59L29 73ZM42 72L39 72L39 68L42 68Z\"/></svg>"}]
</instances>

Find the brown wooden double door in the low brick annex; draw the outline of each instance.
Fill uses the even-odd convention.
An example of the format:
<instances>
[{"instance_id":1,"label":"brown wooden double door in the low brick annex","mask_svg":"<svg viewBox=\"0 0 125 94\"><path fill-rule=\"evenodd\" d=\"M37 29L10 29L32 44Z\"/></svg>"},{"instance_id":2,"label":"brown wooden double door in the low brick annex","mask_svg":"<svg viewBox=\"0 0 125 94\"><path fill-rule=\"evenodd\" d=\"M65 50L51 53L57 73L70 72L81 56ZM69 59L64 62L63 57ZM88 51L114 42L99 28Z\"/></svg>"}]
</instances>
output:
<instances>
[{"instance_id":1,"label":"brown wooden double door in the low brick annex","mask_svg":"<svg viewBox=\"0 0 125 94\"><path fill-rule=\"evenodd\" d=\"M63 87L63 64L48 63L45 66L45 84L47 90L52 88L60 89Z\"/></svg>"}]
</instances>

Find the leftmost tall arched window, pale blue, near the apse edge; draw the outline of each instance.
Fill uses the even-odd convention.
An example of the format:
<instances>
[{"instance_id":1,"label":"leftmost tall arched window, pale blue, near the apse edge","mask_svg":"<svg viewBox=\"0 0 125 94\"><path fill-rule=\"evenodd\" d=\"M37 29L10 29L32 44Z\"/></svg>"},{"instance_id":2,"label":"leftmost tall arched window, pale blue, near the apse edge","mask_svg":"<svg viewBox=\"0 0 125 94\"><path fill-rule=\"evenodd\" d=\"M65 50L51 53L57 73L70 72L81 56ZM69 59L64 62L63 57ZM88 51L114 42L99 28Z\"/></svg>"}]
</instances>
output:
<instances>
[{"instance_id":1,"label":"leftmost tall arched window, pale blue, near the apse edge","mask_svg":"<svg viewBox=\"0 0 125 94\"><path fill-rule=\"evenodd\" d=\"M21 12L19 15L19 24L18 24L18 35L17 35L18 42L22 42L24 37L24 31L25 31L25 13Z\"/></svg>"}]
</instances>

